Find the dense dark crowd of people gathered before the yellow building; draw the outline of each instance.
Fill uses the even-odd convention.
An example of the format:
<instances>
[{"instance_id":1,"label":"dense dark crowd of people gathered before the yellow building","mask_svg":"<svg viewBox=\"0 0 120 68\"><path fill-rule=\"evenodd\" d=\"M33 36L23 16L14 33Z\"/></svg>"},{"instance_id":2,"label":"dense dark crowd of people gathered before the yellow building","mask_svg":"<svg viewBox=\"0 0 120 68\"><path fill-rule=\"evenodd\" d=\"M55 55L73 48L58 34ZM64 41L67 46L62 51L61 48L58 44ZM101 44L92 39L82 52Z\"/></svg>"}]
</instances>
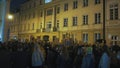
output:
<instances>
[{"instance_id":1,"label":"dense dark crowd of people gathered before the yellow building","mask_svg":"<svg viewBox=\"0 0 120 68\"><path fill-rule=\"evenodd\" d=\"M120 68L120 46L45 42L37 39L32 41L9 41L0 43L0 51L7 50L11 58L12 68ZM17 56L22 64L17 63ZM18 55L19 54L19 55ZM18 60L18 59L17 59Z\"/></svg>"}]
</instances>

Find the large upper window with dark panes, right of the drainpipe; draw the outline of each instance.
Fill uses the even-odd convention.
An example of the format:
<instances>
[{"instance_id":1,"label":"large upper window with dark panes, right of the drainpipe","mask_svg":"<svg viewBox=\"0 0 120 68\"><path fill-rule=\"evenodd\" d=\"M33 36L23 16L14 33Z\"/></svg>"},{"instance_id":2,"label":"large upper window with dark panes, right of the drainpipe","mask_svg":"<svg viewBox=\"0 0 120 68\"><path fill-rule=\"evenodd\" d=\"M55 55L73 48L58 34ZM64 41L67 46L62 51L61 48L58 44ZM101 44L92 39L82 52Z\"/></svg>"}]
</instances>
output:
<instances>
[{"instance_id":1,"label":"large upper window with dark panes, right of the drainpipe","mask_svg":"<svg viewBox=\"0 0 120 68\"><path fill-rule=\"evenodd\" d=\"M110 5L110 20L118 20L119 12L118 12L118 4Z\"/></svg>"}]
</instances>

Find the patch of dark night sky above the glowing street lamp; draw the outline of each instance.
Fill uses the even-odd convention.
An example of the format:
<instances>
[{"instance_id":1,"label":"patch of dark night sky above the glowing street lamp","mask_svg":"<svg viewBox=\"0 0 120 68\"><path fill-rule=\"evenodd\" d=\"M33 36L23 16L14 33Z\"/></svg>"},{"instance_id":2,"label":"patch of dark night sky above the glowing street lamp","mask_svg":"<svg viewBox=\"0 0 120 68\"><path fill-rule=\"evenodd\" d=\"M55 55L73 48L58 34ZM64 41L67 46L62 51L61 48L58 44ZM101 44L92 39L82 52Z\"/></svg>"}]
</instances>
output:
<instances>
[{"instance_id":1,"label":"patch of dark night sky above the glowing street lamp","mask_svg":"<svg viewBox=\"0 0 120 68\"><path fill-rule=\"evenodd\" d=\"M20 7L20 4L24 3L26 0L11 0L10 10L16 10Z\"/></svg>"}]
</instances>

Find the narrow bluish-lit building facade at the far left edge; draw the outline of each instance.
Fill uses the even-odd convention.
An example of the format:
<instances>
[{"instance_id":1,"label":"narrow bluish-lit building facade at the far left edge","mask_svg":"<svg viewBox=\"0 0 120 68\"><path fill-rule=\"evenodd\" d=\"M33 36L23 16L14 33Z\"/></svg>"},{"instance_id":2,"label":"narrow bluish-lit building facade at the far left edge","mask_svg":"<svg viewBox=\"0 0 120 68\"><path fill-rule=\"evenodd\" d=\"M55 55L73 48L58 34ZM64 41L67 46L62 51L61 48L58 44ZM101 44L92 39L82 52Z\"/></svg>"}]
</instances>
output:
<instances>
[{"instance_id":1,"label":"narrow bluish-lit building facade at the far left edge","mask_svg":"<svg viewBox=\"0 0 120 68\"><path fill-rule=\"evenodd\" d=\"M8 38L8 21L10 0L0 0L0 41L6 41Z\"/></svg>"}]
</instances>

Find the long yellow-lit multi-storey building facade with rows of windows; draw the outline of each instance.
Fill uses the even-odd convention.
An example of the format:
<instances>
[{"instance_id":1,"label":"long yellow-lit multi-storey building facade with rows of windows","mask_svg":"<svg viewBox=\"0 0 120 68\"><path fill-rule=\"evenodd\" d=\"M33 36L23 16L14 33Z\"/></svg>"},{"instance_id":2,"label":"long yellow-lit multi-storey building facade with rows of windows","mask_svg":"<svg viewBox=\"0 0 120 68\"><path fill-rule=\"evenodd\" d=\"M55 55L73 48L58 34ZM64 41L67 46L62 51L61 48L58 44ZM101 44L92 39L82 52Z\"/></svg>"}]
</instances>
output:
<instances>
[{"instance_id":1,"label":"long yellow-lit multi-storey building facade with rows of windows","mask_svg":"<svg viewBox=\"0 0 120 68\"><path fill-rule=\"evenodd\" d=\"M107 43L118 44L120 1L106 0L105 8L105 38ZM19 24L11 26L11 38L34 36L60 42L71 38L92 44L103 39L103 0L29 0L20 9L15 17Z\"/></svg>"}]
</instances>

